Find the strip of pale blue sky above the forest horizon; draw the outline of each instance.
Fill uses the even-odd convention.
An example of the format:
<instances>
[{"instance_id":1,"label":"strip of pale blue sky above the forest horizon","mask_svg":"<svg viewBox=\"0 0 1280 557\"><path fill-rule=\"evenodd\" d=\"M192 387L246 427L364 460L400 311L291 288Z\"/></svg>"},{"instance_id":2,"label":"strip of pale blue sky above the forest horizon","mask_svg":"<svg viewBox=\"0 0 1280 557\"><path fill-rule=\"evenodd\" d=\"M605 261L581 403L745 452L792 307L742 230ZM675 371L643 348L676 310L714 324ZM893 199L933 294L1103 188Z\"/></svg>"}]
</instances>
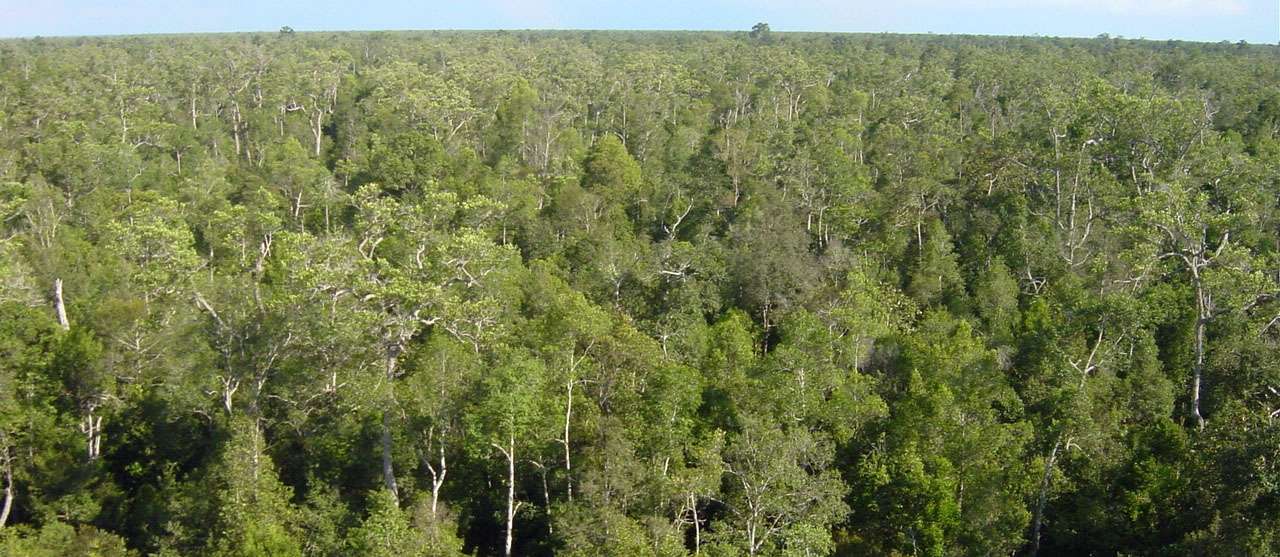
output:
<instances>
[{"instance_id":1,"label":"strip of pale blue sky above the forest horizon","mask_svg":"<svg viewBox=\"0 0 1280 557\"><path fill-rule=\"evenodd\" d=\"M0 0L0 37L346 29L749 29L1280 42L1280 0Z\"/></svg>"}]
</instances>

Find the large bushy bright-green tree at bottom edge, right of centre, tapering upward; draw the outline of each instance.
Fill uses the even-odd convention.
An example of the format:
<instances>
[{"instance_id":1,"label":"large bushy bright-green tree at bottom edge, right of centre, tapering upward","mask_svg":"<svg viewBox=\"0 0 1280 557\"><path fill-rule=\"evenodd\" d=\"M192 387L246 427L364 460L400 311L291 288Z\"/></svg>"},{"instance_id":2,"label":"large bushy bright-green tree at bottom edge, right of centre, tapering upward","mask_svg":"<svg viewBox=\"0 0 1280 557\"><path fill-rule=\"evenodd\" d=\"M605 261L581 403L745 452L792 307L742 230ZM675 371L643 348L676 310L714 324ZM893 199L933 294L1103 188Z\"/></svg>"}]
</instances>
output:
<instances>
[{"instance_id":1,"label":"large bushy bright-green tree at bottom edge, right of centre, tapering upward","mask_svg":"<svg viewBox=\"0 0 1280 557\"><path fill-rule=\"evenodd\" d=\"M883 437L859 464L854 517L879 549L1011 552L1030 521L1028 424L995 352L965 321L931 311L901 339L897 397ZM897 548L897 549L895 549Z\"/></svg>"}]
</instances>

